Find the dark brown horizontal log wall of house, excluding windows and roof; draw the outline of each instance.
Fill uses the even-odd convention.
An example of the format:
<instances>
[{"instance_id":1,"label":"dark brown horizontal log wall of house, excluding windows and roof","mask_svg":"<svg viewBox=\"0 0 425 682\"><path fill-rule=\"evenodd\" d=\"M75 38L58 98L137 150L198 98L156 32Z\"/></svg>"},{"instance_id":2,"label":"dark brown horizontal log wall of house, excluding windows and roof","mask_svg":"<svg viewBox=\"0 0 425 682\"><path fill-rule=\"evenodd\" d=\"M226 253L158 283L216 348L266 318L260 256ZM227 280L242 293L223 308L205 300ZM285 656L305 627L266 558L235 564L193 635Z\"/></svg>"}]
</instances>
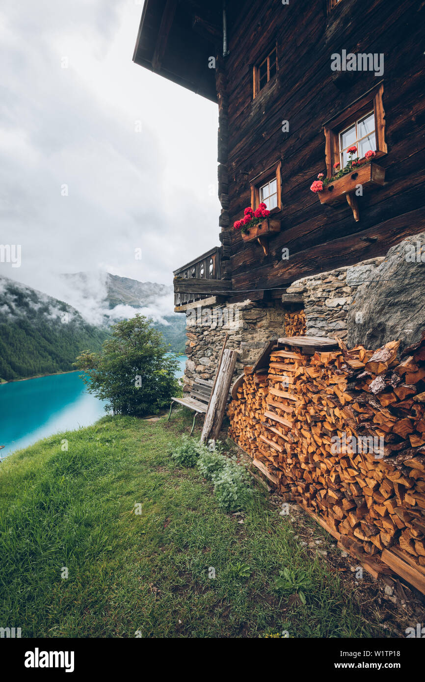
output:
<instances>
[{"instance_id":1,"label":"dark brown horizontal log wall of house, excluding windows and roof","mask_svg":"<svg viewBox=\"0 0 425 682\"><path fill-rule=\"evenodd\" d=\"M425 226L424 6L413 0L248 3L229 36L220 99L228 104L219 145L226 188L222 242L229 244L233 289L279 287L314 273L381 256ZM278 44L278 76L252 99L252 65ZM383 53L382 78L354 73L334 84L332 53ZM310 184L325 173L323 124L383 80L385 186L359 198L360 222L347 203L321 205ZM225 83L225 85L223 85ZM282 132L282 120L289 133ZM223 128L224 129L224 128ZM227 153L224 153L227 145ZM233 222L250 205L250 179L282 160L282 231L269 255L245 243ZM223 190L222 190L223 192ZM228 192L228 194L227 194ZM370 241L372 240L372 241ZM282 248L289 248L289 261Z\"/></svg>"}]
</instances>

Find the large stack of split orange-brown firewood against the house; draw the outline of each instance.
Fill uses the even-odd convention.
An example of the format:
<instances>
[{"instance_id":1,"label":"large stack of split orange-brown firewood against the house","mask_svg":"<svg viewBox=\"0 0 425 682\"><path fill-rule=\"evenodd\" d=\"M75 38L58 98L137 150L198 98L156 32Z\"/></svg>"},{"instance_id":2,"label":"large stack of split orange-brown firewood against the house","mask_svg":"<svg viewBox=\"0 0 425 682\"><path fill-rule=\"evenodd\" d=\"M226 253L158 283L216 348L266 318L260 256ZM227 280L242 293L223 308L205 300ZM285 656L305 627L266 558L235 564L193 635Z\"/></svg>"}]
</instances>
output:
<instances>
[{"instance_id":1,"label":"large stack of split orange-brown firewood against the house","mask_svg":"<svg viewBox=\"0 0 425 682\"><path fill-rule=\"evenodd\" d=\"M231 432L347 550L391 548L425 576L425 333L401 359L398 345L348 351L340 342L314 355L276 347L261 424L246 383L255 428L246 403L242 413L233 401Z\"/></svg>"}]
</instances>

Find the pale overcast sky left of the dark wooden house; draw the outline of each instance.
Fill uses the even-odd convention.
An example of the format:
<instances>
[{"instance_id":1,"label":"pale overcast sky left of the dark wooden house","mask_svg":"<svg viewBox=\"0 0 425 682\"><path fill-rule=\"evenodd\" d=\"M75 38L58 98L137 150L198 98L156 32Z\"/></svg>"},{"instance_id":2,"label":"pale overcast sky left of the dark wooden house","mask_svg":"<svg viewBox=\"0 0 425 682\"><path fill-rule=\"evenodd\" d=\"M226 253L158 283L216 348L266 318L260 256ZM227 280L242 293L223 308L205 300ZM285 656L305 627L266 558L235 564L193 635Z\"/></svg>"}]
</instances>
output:
<instances>
[{"instance_id":1,"label":"pale overcast sky left of the dark wooden house","mask_svg":"<svg viewBox=\"0 0 425 682\"><path fill-rule=\"evenodd\" d=\"M1 1L0 243L23 262L0 272L50 295L61 272L171 284L219 244L218 108L132 62L142 10Z\"/></svg>"}]
</instances>

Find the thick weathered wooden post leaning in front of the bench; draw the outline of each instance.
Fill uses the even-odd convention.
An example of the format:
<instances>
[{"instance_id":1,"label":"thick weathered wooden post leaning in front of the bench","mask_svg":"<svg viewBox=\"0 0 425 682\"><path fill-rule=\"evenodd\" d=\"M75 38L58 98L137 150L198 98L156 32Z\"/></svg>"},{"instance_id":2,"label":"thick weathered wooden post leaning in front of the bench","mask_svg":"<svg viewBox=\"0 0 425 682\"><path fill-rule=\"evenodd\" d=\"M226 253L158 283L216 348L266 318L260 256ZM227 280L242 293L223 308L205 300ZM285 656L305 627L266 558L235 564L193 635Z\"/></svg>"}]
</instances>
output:
<instances>
[{"instance_id":1,"label":"thick weathered wooden post leaning in front of the bench","mask_svg":"<svg viewBox=\"0 0 425 682\"><path fill-rule=\"evenodd\" d=\"M223 352L222 363L217 375L214 393L211 394L211 401L205 416L204 426L201 434L201 443L207 443L210 439L214 441L218 438L222 425L224 411L226 409L227 397L235 371L237 351L226 349Z\"/></svg>"}]
</instances>

